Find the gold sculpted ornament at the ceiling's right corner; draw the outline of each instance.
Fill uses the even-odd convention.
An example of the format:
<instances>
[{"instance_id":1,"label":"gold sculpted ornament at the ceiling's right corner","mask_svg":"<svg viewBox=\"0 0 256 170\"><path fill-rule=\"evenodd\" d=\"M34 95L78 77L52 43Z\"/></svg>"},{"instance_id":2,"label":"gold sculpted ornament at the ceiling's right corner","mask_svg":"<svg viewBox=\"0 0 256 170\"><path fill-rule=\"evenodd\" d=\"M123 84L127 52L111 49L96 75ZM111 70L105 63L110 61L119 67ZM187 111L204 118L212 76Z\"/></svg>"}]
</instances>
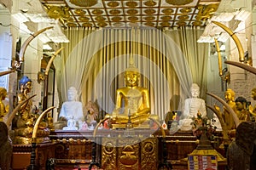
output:
<instances>
[{"instance_id":1,"label":"gold sculpted ornament at the ceiling's right corner","mask_svg":"<svg viewBox=\"0 0 256 170\"><path fill-rule=\"evenodd\" d=\"M218 9L218 3L209 5L198 5L198 14L196 20L207 20L212 17L212 14Z\"/></svg>"}]
</instances>

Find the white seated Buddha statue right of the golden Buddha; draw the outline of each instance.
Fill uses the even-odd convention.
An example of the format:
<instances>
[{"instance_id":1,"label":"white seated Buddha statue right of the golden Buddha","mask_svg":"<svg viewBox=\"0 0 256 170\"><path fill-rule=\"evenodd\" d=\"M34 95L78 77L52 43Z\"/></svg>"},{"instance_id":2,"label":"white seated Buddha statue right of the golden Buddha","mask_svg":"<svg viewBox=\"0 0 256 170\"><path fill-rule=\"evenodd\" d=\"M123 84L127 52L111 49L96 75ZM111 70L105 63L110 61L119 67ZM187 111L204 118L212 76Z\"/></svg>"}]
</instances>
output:
<instances>
[{"instance_id":1,"label":"white seated Buddha statue right of the golden Buddha","mask_svg":"<svg viewBox=\"0 0 256 170\"><path fill-rule=\"evenodd\" d=\"M200 99L200 88L196 83L193 83L190 88L191 98L185 99L182 119L179 121L181 130L188 131L192 129L192 118L197 117L200 112L202 117L207 116L206 102Z\"/></svg>"}]
</instances>

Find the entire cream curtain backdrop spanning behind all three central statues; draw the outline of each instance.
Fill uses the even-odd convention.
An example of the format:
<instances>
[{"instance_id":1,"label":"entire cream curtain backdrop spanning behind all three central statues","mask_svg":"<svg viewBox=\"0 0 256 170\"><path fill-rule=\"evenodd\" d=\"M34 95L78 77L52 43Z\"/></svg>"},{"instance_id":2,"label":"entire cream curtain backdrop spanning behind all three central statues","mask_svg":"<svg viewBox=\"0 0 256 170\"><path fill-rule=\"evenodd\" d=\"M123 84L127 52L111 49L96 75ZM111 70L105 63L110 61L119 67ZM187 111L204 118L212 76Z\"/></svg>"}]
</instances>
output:
<instances>
[{"instance_id":1,"label":"entire cream curtain backdrop spanning behind all three central statues","mask_svg":"<svg viewBox=\"0 0 256 170\"><path fill-rule=\"evenodd\" d=\"M123 72L132 56L142 75L140 85L149 89L151 113L159 115L160 120L163 120L167 111L182 111L183 100L190 94L191 83L195 82L193 77L201 77L198 75L200 71L195 73L196 76L192 76L191 68L194 70L196 65L204 65L204 62L189 63L185 54L196 59L207 50L197 47L196 35L189 37L186 42L184 32L187 30L67 30L67 37L72 44L66 44L64 53L61 54L63 62L59 84L62 101L67 99L67 89L74 86L79 90L79 99L84 105L90 100L96 101L103 112L111 113L115 103L115 91L125 86ZM197 32L195 29L190 31ZM189 50L191 43L191 48L195 48L196 45L194 54L190 54L191 50L184 53L183 50ZM204 52L199 54L199 49ZM207 68L207 65L203 67ZM203 73L201 71L201 74ZM204 81L199 78L197 83L201 86ZM175 101L175 106L170 106L170 100L175 96L178 97L178 101Z\"/></svg>"}]
</instances>

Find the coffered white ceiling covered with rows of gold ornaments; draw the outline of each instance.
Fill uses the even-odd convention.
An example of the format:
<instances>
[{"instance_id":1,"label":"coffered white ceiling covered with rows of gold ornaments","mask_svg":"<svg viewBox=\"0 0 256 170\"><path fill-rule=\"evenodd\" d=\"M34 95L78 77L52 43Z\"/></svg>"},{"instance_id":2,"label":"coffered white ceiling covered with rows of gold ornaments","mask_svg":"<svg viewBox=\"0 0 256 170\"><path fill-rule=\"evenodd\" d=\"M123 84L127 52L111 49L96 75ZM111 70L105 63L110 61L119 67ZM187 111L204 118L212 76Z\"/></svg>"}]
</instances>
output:
<instances>
[{"instance_id":1,"label":"coffered white ceiling covered with rows of gold ornaments","mask_svg":"<svg viewBox=\"0 0 256 170\"><path fill-rule=\"evenodd\" d=\"M206 26L221 0L40 0L65 27Z\"/></svg>"}]
</instances>

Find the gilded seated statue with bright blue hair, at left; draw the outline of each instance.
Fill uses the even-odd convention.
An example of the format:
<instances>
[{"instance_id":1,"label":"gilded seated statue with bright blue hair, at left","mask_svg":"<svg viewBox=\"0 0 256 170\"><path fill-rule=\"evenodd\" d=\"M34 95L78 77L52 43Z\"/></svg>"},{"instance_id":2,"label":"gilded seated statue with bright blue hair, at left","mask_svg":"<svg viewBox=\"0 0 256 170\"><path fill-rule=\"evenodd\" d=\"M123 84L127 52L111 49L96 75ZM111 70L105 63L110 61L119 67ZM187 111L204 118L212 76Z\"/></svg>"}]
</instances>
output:
<instances>
[{"instance_id":1,"label":"gilded seated statue with bright blue hair, at left","mask_svg":"<svg viewBox=\"0 0 256 170\"><path fill-rule=\"evenodd\" d=\"M25 99L29 98L29 93L32 89L32 80L24 76L19 81L20 93L18 94L18 103L20 104ZM15 144L31 144L32 131L38 114L32 112L32 101L28 100L24 105L21 105L18 111L17 122L14 126ZM40 122L38 126L38 142L48 141L49 128L47 122Z\"/></svg>"}]
</instances>

